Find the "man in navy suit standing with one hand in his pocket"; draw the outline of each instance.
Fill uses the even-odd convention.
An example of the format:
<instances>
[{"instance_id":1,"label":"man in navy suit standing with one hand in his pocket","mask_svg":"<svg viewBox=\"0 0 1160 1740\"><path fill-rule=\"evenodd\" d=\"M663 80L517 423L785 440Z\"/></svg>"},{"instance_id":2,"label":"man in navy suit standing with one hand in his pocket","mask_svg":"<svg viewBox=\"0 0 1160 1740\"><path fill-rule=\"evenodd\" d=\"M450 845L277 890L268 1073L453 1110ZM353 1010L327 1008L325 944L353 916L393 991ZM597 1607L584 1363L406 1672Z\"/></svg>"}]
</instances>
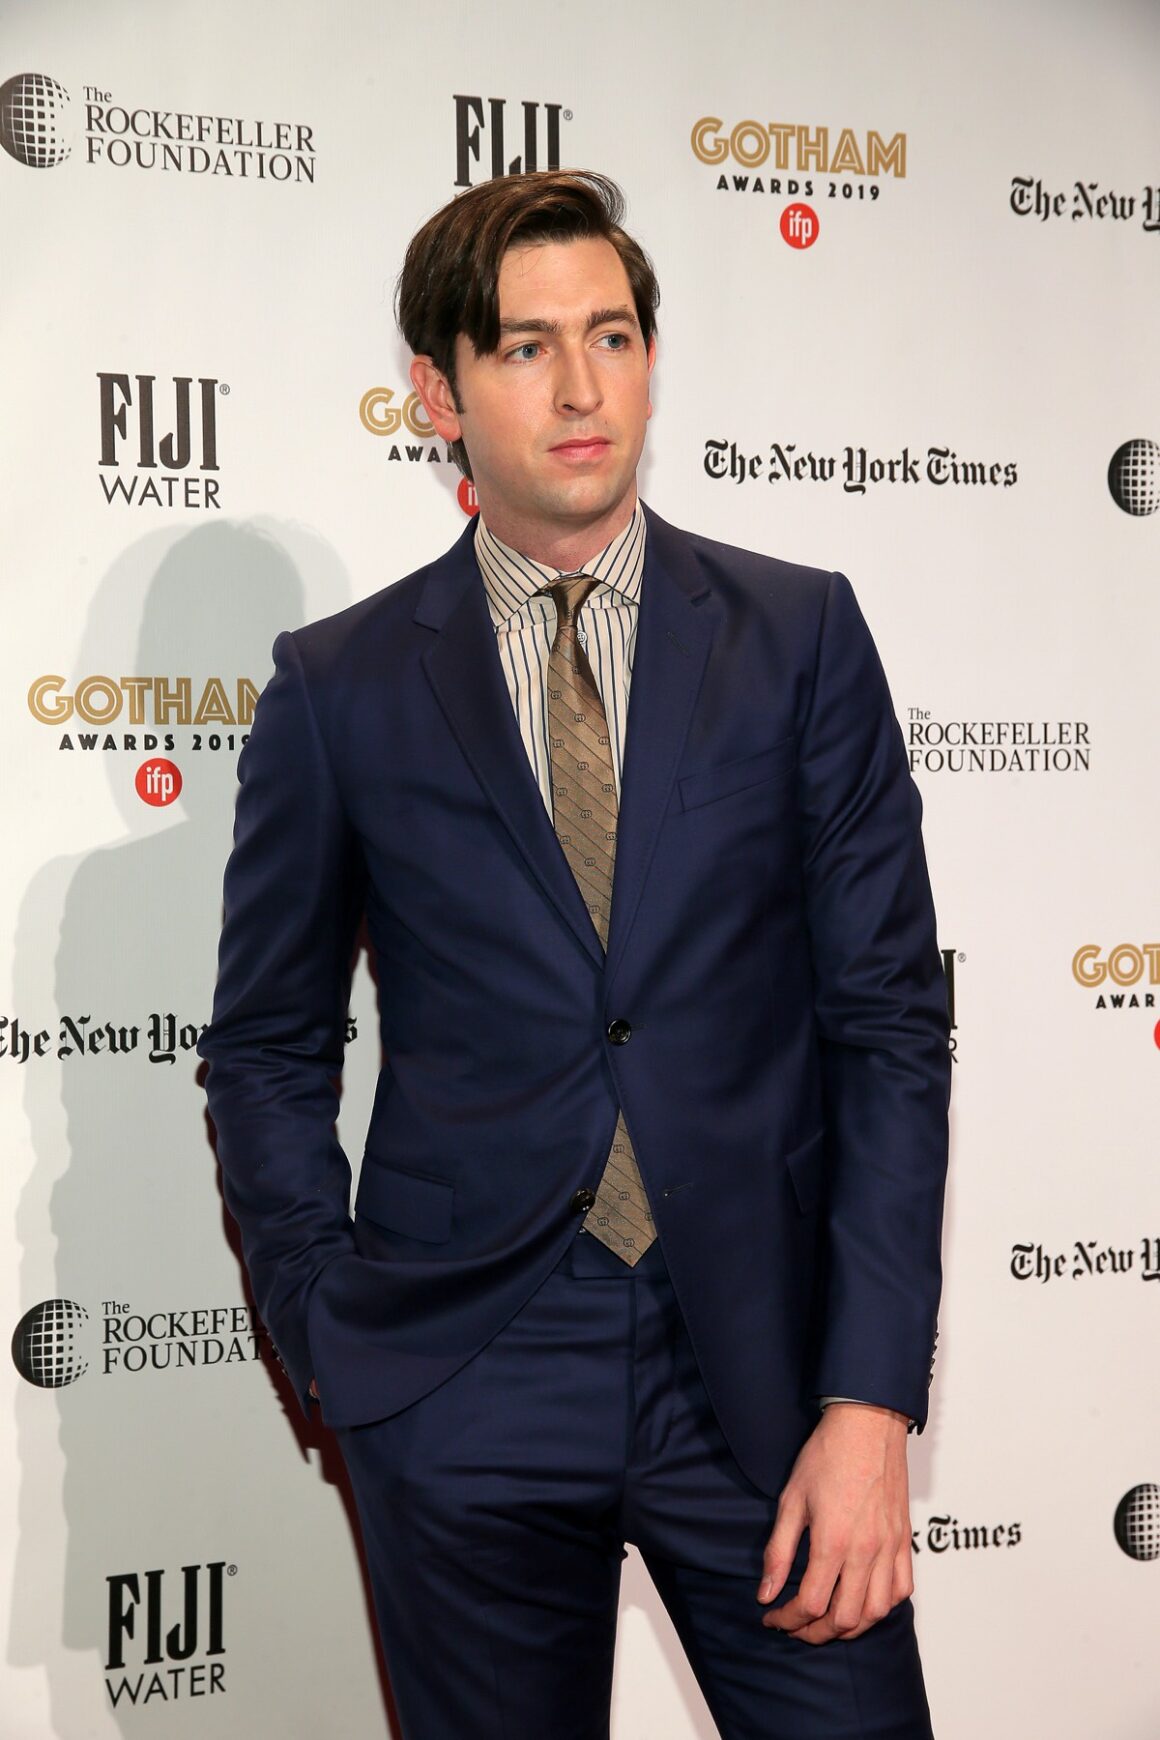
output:
<instances>
[{"instance_id":1,"label":"man in navy suit standing with one hand in his pocket","mask_svg":"<svg viewBox=\"0 0 1160 1740\"><path fill-rule=\"evenodd\" d=\"M638 503L657 292L619 218L600 176L513 176L410 244L412 381L480 520L277 642L202 1042L224 1190L343 1444L407 1740L607 1735L626 1540L729 1740L917 1740L920 804L847 581Z\"/></svg>"}]
</instances>

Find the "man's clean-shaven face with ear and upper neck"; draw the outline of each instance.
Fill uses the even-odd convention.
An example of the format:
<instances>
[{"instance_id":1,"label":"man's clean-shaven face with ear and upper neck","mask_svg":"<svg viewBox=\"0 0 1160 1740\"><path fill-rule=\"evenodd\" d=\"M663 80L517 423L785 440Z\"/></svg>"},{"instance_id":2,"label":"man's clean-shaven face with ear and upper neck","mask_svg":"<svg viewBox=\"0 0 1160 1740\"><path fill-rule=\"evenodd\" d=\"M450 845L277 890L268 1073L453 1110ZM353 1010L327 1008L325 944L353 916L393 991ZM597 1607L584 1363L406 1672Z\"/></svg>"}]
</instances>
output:
<instances>
[{"instance_id":1,"label":"man's clean-shaven face with ear and upper neck","mask_svg":"<svg viewBox=\"0 0 1160 1740\"><path fill-rule=\"evenodd\" d=\"M456 339L454 400L430 358L416 358L428 416L445 440L463 438L483 519L506 543L532 555L576 536L610 539L637 501L654 357L612 244L510 249L499 324L494 355Z\"/></svg>"}]
</instances>

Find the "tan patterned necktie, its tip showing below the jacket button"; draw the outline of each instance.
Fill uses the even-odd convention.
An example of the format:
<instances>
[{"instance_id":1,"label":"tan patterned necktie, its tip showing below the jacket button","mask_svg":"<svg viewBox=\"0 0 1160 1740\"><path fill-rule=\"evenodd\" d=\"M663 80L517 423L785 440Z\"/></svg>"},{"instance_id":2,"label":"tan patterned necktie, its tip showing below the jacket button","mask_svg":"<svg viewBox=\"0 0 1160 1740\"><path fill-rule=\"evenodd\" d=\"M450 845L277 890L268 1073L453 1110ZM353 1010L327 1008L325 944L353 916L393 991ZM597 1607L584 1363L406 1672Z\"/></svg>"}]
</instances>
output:
<instances>
[{"instance_id":1,"label":"tan patterned necktie, its tip showing below the jacket button","mask_svg":"<svg viewBox=\"0 0 1160 1740\"><path fill-rule=\"evenodd\" d=\"M557 607L557 637L548 656L548 740L557 837L607 948L616 861L616 778L600 689L576 639L576 618L595 585L590 574L572 574L544 588ZM584 1228L630 1267L656 1239L623 1112L616 1115L612 1152Z\"/></svg>"}]
</instances>

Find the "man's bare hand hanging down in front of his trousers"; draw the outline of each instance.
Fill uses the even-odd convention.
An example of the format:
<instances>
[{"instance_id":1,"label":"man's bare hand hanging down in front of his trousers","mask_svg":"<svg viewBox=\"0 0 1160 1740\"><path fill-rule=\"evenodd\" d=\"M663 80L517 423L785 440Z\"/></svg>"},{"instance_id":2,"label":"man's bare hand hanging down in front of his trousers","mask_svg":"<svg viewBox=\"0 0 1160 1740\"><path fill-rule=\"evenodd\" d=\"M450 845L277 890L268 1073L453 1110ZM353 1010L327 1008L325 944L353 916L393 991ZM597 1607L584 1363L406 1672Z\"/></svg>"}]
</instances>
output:
<instances>
[{"instance_id":1,"label":"man's bare hand hanging down in front of his trousers","mask_svg":"<svg viewBox=\"0 0 1160 1740\"><path fill-rule=\"evenodd\" d=\"M826 1408L777 1503L757 1599L777 1597L805 1528L809 1564L797 1596L763 1625L803 1643L861 1637L913 1592L906 1429L890 1408Z\"/></svg>"}]
</instances>

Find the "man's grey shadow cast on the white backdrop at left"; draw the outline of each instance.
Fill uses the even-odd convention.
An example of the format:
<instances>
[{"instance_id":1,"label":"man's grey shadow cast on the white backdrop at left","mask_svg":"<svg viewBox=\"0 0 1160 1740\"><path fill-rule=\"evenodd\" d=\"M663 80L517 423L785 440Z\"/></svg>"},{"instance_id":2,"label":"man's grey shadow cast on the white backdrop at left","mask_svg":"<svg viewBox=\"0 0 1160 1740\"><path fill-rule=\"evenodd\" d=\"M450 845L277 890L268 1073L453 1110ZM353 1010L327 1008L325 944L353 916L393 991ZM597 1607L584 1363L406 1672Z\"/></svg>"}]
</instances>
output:
<instances>
[{"instance_id":1,"label":"man's grey shadow cast on the white backdrop at left","mask_svg":"<svg viewBox=\"0 0 1160 1740\"><path fill-rule=\"evenodd\" d=\"M275 633L348 602L350 581L334 552L301 525L224 522L151 532L101 581L68 687L92 673L113 682L129 673L190 675L195 705L210 675L221 677L228 696L238 677L261 689ZM77 741L73 720L52 731L49 753L57 753L64 729ZM176 743L169 759L179 766L183 788L170 807L157 809L134 788L148 755L141 746L148 729L162 740L155 753L165 755L165 726L132 726L125 713L97 736L103 741L111 733L122 743L125 733L136 733L136 750L71 752L89 755L94 792L108 778L123 832L47 863L19 914L14 1009L26 1025L50 1028L54 1044L64 1016L83 1034L106 1023L117 1032L136 1028L136 1046L115 1053L106 1041L90 1053L73 1035L71 1054L59 1065L33 1060L24 1070L37 1164L17 1211L21 1249L30 1253L21 1305L28 1310L47 1296L45 1251L54 1249L52 1291L89 1312L89 1369L64 1389L21 1385L17 1395L21 1533L9 1656L16 1665L47 1667L54 1733L77 1733L78 1712L92 1717L85 1731L141 1731L139 1705L122 1691L113 1709L103 1681L127 1677L136 1684L143 1670L144 1573L165 1568L162 1618L169 1632L184 1623L181 1568L224 1559L237 1563L237 1583L224 1590L221 1656L231 1731L266 1731L263 1698L287 1679L289 1663L306 1660L299 1669L306 1696L301 1686L292 1691L292 1731L323 1740L334 1733L336 1710L327 1710L323 1696L334 1688L343 1639L329 1636L329 1590L311 1585L330 1566L350 1578L343 1510L357 1540L330 1436L304 1420L273 1361L263 1357L256 1369L250 1336L242 1338L245 1359L223 1357L212 1368L176 1366L176 1355L162 1350L158 1361L170 1364L134 1373L125 1343L115 1355L118 1369L103 1369L108 1319L235 1307L243 1296L237 1234L207 1143L198 1058L174 1044L183 1028L191 1041L209 1018L237 741L230 748L228 724L209 724L195 748L197 727L170 727ZM219 748L209 746L210 736ZM45 785L50 790L50 781ZM94 799L97 816L101 799ZM176 1328L184 1335L191 1319ZM221 1340L228 1354L231 1336ZM264 1347L264 1338L257 1345ZM315 1465L327 1495L303 1489L301 1462ZM301 1516L287 1514L296 1503ZM310 1533L315 1521L317 1543ZM289 1587L285 1576L277 1585L280 1554ZM125 1670L106 1674L108 1578L123 1573L137 1575L143 1599L136 1636L122 1639ZM203 1569L198 1590L207 1576ZM297 1597L294 1580L301 1580ZM271 1594L285 1599L285 1611L270 1611ZM120 1599L129 1604L123 1592ZM313 1627L311 1613L322 1615ZM207 1644L202 1597L198 1623L191 1662L203 1658ZM367 1710L343 1712L348 1731L358 1731L367 1717L381 1724L379 1688L365 1670L372 1634L367 1616L367 1634L348 1641L370 1688ZM165 1698L151 1698L155 1710L162 1702L179 1705L165 1714L172 1737L195 1726L202 1731L205 1721L203 1698L190 1698L190 1674L174 1677L176 1667L181 1660L158 1663ZM139 1696L153 1672L144 1670ZM202 1684L209 1695L209 1674Z\"/></svg>"}]
</instances>

